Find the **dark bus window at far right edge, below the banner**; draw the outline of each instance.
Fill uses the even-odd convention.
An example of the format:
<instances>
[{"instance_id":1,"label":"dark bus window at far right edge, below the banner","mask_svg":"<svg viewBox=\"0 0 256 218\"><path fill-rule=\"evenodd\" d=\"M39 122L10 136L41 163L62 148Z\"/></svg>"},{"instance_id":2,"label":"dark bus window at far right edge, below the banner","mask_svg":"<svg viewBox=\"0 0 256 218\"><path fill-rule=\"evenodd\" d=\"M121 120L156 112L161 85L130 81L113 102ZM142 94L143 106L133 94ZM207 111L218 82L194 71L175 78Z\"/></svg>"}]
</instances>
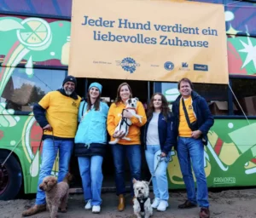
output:
<instances>
[{"instance_id":1,"label":"dark bus window at far right edge, below the banner","mask_svg":"<svg viewBox=\"0 0 256 218\"><path fill-rule=\"evenodd\" d=\"M237 108L235 114L243 115L243 110L247 116L256 116L256 79L231 78L230 80L233 92L241 106L233 97L233 103Z\"/></svg>"}]
</instances>

